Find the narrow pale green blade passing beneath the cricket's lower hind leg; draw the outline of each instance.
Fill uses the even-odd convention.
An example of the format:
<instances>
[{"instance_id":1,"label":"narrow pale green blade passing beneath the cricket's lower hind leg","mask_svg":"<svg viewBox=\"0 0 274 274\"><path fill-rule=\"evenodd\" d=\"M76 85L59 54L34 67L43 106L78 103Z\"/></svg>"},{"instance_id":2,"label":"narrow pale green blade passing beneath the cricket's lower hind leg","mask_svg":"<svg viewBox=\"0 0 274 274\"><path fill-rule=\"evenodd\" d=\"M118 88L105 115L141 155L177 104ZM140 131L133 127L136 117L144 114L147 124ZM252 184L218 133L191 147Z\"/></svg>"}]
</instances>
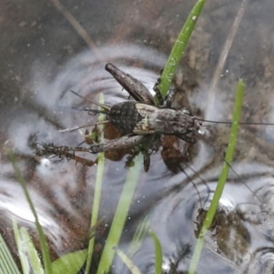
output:
<instances>
[{"instance_id":1,"label":"narrow pale green blade passing beneath the cricket's lower hind leg","mask_svg":"<svg viewBox=\"0 0 274 274\"><path fill-rule=\"evenodd\" d=\"M103 103L103 93L100 94L99 103ZM105 114L99 114L99 121L105 120ZM99 125L99 140L103 142L103 125ZM94 227L98 221L99 216L99 207L101 200L101 189L103 184L103 166L105 163L105 153L99 153L98 162L97 162L97 173L96 173L96 182L95 182L95 195L92 205L91 221L90 227ZM92 260L93 248L95 244L95 237L90 238L88 243L88 258L86 260L86 269L85 274L90 273L90 265Z\"/></svg>"}]
</instances>

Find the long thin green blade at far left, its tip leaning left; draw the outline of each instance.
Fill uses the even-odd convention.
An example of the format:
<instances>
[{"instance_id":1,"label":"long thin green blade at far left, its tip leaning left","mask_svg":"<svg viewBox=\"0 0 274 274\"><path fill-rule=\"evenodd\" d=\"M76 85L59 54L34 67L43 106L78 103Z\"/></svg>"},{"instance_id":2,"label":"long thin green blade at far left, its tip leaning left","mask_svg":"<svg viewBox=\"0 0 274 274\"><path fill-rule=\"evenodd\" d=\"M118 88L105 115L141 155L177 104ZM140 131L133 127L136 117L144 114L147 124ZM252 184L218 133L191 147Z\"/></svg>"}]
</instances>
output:
<instances>
[{"instance_id":1,"label":"long thin green blade at far left, its tip leaning left","mask_svg":"<svg viewBox=\"0 0 274 274\"><path fill-rule=\"evenodd\" d=\"M34 204L32 203L32 199L31 199L31 197L29 195L29 192L27 190L27 184L25 182L25 179L24 179L20 169L18 169L14 153L12 153L12 151L10 149L8 149L8 155L9 155L9 158L10 158L10 162L12 162L12 166L13 166L13 169L15 171L18 182L20 182L20 184L23 188L23 191L25 193L27 203L29 203L29 207L32 210L32 214L34 214L35 225L36 225L36 229L38 231L40 245L41 245L41 249L42 249L42 259L43 259L43 263L44 263L44 266L45 266L45 273L46 274L53 274L53 271L51 269L51 259L49 257L49 249L47 247L46 237L45 237L45 234L42 231L42 226L39 223L38 215L37 215L36 210L34 208Z\"/></svg>"}]
</instances>

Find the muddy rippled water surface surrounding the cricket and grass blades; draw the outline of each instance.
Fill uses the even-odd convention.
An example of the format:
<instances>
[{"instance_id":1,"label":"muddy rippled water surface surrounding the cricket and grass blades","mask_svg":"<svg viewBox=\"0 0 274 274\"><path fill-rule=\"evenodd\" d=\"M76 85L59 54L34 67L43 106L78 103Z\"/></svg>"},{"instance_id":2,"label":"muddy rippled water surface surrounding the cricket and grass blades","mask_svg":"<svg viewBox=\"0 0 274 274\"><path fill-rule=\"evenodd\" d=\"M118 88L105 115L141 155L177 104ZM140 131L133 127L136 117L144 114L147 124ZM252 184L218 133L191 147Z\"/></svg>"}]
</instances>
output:
<instances>
[{"instance_id":1,"label":"muddy rippled water surface surrounding the cricket and grass blades","mask_svg":"<svg viewBox=\"0 0 274 274\"><path fill-rule=\"evenodd\" d=\"M10 217L15 216L31 232L34 220L4 147L17 153L18 166L51 241L53 258L86 247L96 166L39 158L32 144L75 146L84 140L84 129L59 132L97 120L71 109L82 100L69 90L94 99L103 92L110 104L127 99L126 92L104 71L106 62L113 62L151 89L192 2L66 2L65 8L86 29L99 53L88 49L51 2L1 3L0 32L5 39L0 49L0 229L14 253ZM247 5L214 104L208 105L214 70L239 7L238 1L206 3L177 75L177 85L186 93L181 89L176 103L187 105L199 116L229 121L236 82L242 77L247 83L242 121L271 123L274 5L270 0ZM223 154L229 127L204 125L205 138ZM185 155L166 160L166 155L177 155L174 147ZM241 127L233 164L241 179L233 172L229 175L198 273L273 273L273 152L273 127ZM127 155L114 156L105 162L101 203L101 216L108 224L127 174ZM88 155L90 160L96 157ZM162 244L163 269L184 273L203 218L200 209L209 206L222 164L218 153L203 140L191 146L166 142L151 156L149 172L140 174L121 249L127 251L136 225L148 215ZM98 238L98 246L105 234ZM152 240L147 236L133 260L142 273L153 273L153 256ZM114 266L113 273L127 273L118 258Z\"/></svg>"}]
</instances>

